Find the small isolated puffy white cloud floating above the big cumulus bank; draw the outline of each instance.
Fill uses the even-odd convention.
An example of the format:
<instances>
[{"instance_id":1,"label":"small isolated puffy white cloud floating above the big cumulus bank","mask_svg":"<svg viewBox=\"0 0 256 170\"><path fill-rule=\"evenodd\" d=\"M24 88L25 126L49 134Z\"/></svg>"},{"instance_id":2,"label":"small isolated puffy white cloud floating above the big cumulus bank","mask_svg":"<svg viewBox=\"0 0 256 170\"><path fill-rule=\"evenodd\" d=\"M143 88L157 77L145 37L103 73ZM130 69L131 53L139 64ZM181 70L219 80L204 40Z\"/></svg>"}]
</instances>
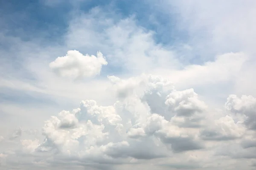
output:
<instances>
[{"instance_id":1,"label":"small isolated puffy white cloud floating above the big cumulus bank","mask_svg":"<svg viewBox=\"0 0 256 170\"><path fill-rule=\"evenodd\" d=\"M100 74L102 65L107 65L105 57L101 52L94 55L85 56L79 51L67 51L66 56L58 57L49 64L49 67L61 77L70 77L73 79L82 77L94 77Z\"/></svg>"}]
</instances>

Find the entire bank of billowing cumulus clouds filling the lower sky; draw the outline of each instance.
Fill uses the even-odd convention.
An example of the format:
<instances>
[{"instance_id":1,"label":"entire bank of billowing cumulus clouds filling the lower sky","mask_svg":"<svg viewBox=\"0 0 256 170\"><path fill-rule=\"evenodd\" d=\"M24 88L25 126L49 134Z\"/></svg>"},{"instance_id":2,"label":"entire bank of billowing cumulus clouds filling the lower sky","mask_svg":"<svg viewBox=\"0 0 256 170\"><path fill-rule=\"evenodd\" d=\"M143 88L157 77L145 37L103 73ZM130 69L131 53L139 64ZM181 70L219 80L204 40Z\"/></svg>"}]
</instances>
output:
<instances>
[{"instance_id":1,"label":"entire bank of billowing cumulus clouds filling the lower sky","mask_svg":"<svg viewBox=\"0 0 256 170\"><path fill-rule=\"evenodd\" d=\"M42 128L44 139L21 139L16 154L36 156L32 161L41 162L37 166L68 160L92 169L147 160L160 169L203 169L214 167L211 161L221 156L227 161L256 158L252 96L230 95L226 110L217 114L192 88L178 91L160 76L108 79L116 97L113 105L86 99L79 108L51 116ZM12 139L20 135L16 130ZM5 160L12 156L3 154Z\"/></svg>"}]
</instances>

